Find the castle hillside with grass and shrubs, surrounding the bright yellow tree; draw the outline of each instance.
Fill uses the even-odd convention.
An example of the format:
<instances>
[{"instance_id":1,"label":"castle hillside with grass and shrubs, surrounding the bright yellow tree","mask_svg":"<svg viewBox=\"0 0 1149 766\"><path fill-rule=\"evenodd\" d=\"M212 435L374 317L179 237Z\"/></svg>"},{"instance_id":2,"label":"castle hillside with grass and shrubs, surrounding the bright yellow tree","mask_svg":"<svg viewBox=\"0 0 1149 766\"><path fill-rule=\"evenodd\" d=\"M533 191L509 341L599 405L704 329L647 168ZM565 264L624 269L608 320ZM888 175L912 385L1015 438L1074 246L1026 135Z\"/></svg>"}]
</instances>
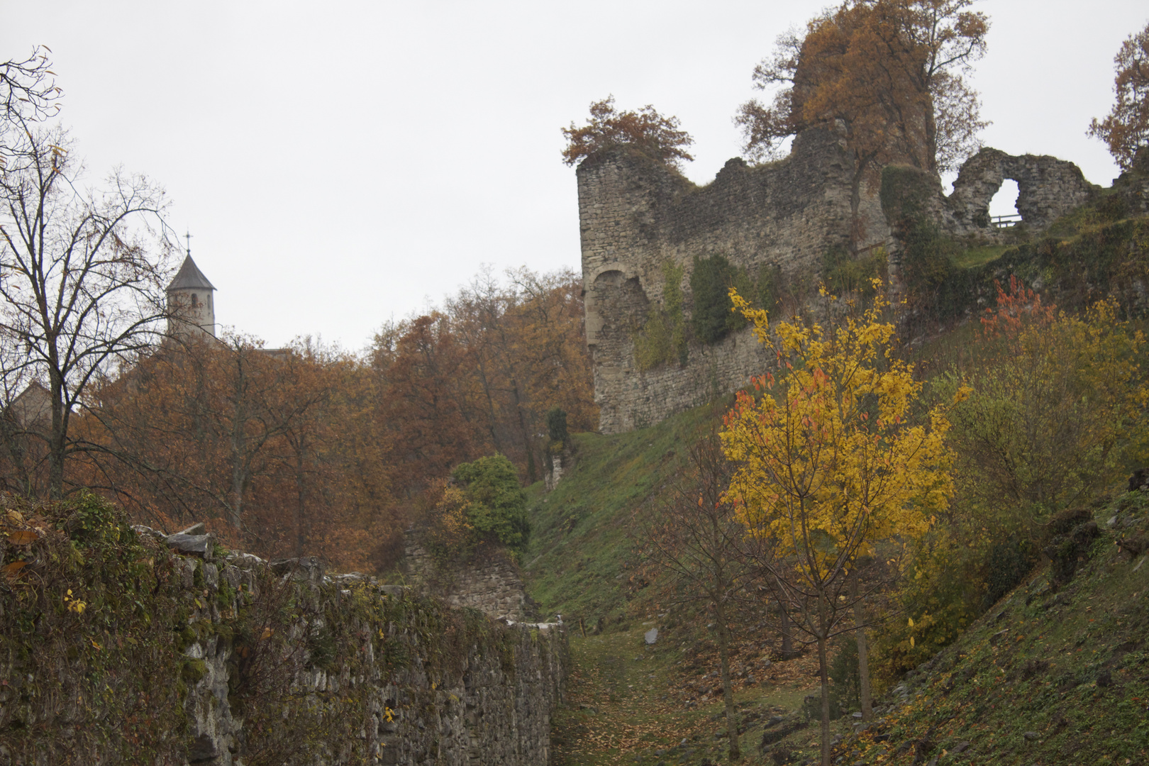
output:
<instances>
[{"instance_id":1,"label":"castle hillside with grass and shrubs, surrounding the bright yellow tree","mask_svg":"<svg viewBox=\"0 0 1149 766\"><path fill-rule=\"evenodd\" d=\"M1149 494L1125 492L1147 458L1149 238L1129 204L1143 186L1134 169L1048 231L995 246L905 230L902 358L923 405L963 384L972 393L950 412L949 510L866 606L870 720L856 718L851 630L832 641L835 763L1143 758ZM859 281L838 262L823 277ZM557 487L531 490L527 588L572 626L560 763L727 758L714 614L643 550L646 520L694 475L691 444L731 405L574 434ZM784 650L761 587L728 627L743 756L816 763L810 649Z\"/></svg>"}]
</instances>

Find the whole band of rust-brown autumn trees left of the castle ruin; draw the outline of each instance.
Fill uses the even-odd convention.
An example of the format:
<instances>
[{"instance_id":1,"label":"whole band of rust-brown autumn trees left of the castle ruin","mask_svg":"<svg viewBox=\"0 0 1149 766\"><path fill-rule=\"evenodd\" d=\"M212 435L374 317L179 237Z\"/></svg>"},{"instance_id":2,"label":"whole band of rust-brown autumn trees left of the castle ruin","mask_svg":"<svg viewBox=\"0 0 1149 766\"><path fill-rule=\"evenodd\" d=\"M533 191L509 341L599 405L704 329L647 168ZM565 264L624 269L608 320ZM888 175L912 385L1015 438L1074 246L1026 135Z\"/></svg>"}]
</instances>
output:
<instances>
[{"instance_id":1,"label":"whole band of rust-brown autumn trees left of the castle ruin","mask_svg":"<svg viewBox=\"0 0 1149 766\"><path fill-rule=\"evenodd\" d=\"M547 410L595 425L580 280L509 277L483 273L442 310L385 326L365 358L240 335L146 349L85 389L68 485L169 532L207 521L262 556L383 568L460 463L498 451L534 481ZM0 412L0 487L20 494L47 479L33 404Z\"/></svg>"}]
</instances>

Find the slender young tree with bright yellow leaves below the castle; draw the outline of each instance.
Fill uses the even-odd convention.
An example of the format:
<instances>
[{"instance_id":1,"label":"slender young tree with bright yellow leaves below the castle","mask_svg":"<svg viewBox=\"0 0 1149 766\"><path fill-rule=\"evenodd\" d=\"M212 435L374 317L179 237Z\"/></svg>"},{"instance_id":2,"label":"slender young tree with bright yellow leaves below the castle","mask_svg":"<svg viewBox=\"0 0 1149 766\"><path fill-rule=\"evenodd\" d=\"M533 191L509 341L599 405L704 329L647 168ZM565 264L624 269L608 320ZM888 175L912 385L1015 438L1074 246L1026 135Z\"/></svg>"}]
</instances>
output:
<instances>
[{"instance_id":1,"label":"slender young tree with bright yellow leaves below the castle","mask_svg":"<svg viewBox=\"0 0 1149 766\"><path fill-rule=\"evenodd\" d=\"M849 575L863 556L897 558L954 493L947 408L916 407L921 384L895 353L880 280L874 288L864 309L823 288L825 324L795 317L773 327L766 311L731 289L735 310L776 353L779 374L755 378L757 393L740 392L726 415L723 448L738 466L728 496L749 533L774 552L764 568L780 606L817 643L826 766L832 636L857 630L867 676L864 620L848 620L866 594ZM955 399L967 393L963 387Z\"/></svg>"}]
</instances>

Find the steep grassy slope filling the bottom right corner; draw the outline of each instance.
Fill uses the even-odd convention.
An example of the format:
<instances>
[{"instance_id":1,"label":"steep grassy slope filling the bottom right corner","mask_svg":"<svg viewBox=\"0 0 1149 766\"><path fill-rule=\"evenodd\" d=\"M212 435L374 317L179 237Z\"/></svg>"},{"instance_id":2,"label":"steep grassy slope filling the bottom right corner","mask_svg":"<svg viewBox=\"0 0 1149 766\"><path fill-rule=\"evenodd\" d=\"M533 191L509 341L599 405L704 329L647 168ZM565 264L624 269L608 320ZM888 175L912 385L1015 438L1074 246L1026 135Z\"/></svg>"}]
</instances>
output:
<instances>
[{"instance_id":1,"label":"steep grassy slope filling the bottom right corner","mask_svg":"<svg viewBox=\"0 0 1149 766\"><path fill-rule=\"evenodd\" d=\"M1067 585L1040 567L908 674L838 763L1149 763L1149 566L1131 554L1149 541L1149 493L1095 519Z\"/></svg>"}]
</instances>

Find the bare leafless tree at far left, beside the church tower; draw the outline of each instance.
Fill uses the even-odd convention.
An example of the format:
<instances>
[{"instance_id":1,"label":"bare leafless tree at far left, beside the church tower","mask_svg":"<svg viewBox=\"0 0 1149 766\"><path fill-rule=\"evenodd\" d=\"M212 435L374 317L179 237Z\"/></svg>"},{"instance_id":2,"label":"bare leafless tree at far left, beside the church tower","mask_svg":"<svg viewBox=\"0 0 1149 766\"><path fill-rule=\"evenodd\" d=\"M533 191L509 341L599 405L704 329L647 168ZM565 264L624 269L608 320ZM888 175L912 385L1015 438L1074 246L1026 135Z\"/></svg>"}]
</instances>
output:
<instances>
[{"instance_id":1,"label":"bare leafless tree at far left, beside the church tower","mask_svg":"<svg viewBox=\"0 0 1149 766\"><path fill-rule=\"evenodd\" d=\"M0 94L2 95L2 94ZM69 439L85 390L152 346L165 316L164 196L142 176L83 185L60 127L8 115L0 169L0 377L7 393L43 386L47 493L64 494L64 462L94 448ZM14 141L8 136L18 133ZM11 402L13 400L8 400Z\"/></svg>"}]
</instances>

